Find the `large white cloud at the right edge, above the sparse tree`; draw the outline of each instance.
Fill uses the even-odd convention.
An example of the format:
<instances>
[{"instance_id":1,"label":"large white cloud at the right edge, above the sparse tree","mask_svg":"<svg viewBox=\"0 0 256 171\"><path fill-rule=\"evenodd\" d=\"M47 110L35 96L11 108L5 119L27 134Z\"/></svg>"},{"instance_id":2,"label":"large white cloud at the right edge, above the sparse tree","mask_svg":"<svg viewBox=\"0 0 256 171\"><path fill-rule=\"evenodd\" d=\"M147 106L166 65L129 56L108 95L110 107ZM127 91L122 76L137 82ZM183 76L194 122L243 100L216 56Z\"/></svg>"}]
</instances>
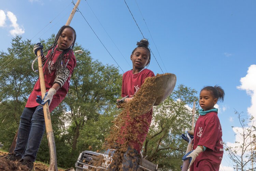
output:
<instances>
[{"instance_id":1,"label":"large white cloud at the right edge, above the sparse tree","mask_svg":"<svg viewBox=\"0 0 256 171\"><path fill-rule=\"evenodd\" d=\"M256 118L256 65L251 65L248 68L245 77L240 79L241 85L237 88L246 90L246 93L251 96L251 106L247 108L248 114Z\"/></svg>"}]
</instances>

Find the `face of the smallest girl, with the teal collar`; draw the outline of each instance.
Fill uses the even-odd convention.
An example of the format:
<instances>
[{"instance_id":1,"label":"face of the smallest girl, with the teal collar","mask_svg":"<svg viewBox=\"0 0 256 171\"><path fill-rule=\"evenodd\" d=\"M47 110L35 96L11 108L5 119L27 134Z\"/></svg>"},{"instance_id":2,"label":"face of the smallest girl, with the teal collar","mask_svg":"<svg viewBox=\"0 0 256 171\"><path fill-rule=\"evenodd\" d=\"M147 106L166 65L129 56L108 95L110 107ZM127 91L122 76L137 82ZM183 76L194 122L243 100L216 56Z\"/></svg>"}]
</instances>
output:
<instances>
[{"instance_id":1,"label":"face of the smallest girl, with the teal collar","mask_svg":"<svg viewBox=\"0 0 256 171\"><path fill-rule=\"evenodd\" d=\"M208 111L214 108L218 99L214 99L211 91L202 90L199 96L199 104L203 111Z\"/></svg>"}]
</instances>

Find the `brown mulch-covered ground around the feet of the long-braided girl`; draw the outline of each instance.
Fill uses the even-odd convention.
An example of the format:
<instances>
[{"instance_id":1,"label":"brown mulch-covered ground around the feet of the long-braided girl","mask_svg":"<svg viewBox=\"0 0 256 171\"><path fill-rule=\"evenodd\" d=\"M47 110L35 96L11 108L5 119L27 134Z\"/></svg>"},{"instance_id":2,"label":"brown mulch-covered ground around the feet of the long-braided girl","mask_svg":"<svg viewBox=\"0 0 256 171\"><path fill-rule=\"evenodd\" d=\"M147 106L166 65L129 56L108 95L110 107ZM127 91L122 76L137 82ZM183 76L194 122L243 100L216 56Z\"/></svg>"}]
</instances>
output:
<instances>
[{"instance_id":1,"label":"brown mulch-covered ground around the feet of the long-braided girl","mask_svg":"<svg viewBox=\"0 0 256 171\"><path fill-rule=\"evenodd\" d=\"M6 152L0 151L0 156L7 154ZM41 162L35 162L34 167L38 167L43 171L48 171L48 166ZM28 168L26 166L22 166L18 161L9 161L0 158L0 171L27 171ZM64 171L63 169L58 169L59 171Z\"/></svg>"}]
</instances>

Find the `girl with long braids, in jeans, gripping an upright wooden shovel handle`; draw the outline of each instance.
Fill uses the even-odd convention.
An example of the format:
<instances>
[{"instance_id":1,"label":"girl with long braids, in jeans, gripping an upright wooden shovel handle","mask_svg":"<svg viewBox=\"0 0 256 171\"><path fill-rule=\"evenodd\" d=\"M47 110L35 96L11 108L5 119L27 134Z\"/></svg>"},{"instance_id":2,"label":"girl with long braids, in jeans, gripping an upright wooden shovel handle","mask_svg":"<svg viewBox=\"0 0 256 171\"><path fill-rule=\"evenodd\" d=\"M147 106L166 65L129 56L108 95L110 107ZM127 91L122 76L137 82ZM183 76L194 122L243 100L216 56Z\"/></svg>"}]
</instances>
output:
<instances>
[{"instance_id":1,"label":"girl with long braids, in jeans, gripping an upright wooden shovel handle","mask_svg":"<svg viewBox=\"0 0 256 171\"><path fill-rule=\"evenodd\" d=\"M34 46L33 51L36 56L37 51L41 51L47 92L42 99L40 81L38 80L20 117L14 153L5 156L9 160L19 159L30 170L33 169L33 162L37 156L45 130L42 105L48 102L49 111L52 112L68 93L70 77L76 66L73 52L75 39L75 30L70 26L62 26L56 35L54 44L46 49L48 51L46 57L43 54L43 45L41 43L37 43Z\"/></svg>"}]
</instances>

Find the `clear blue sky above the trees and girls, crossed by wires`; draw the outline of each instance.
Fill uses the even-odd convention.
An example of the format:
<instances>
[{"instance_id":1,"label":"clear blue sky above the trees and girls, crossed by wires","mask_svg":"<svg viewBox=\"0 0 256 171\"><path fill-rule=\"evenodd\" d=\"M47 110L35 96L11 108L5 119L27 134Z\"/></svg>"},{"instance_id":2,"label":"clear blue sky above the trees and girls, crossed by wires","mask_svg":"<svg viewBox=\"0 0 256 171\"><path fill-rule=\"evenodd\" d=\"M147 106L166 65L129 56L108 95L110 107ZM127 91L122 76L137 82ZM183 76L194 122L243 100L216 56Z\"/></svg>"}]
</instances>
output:
<instances>
[{"instance_id":1,"label":"clear blue sky above the trees and girls, crossed by wires","mask_svg":"<svg viewBox=\"0 0 256 171\"><path fill-rule=\"evenodd\" d=\"M0 50L6 52L7 47L11 46L13 35L10 31L13 29L24 39L34 37L32 39L34 43L38 42L39 37L46 39L52 33L57 33L59 28L66 24L72 11L71 2L72 0L10 0L1 3ZM198 91L207 85L218 84L223 87L226 96L224 102L219 103L219 118L223 128L223 140L233 142L235 136L231 126L239 126L234 109L243 111L246 115L253 115L247 113L247 108L256 103L256 99L253 98L256 90L248 86L253 85L250 81L256 77L253 69L252 79L247 79L243 85L245 88L237 88L241 85L240 79L246 76L248 68L255 64L256 1L127 0L126 2L143 35L149 40L163 72L176 74L177 85L184 84ZM130 54L136 47L136 42L143 37L125 2L81 0L79 10L122 70L131 69ZM10 12L16 16L16 22ZM6 15L4 22L3 13ZM89 49L94 59L116 66L80 13L75 13L70 26L76 30L77 42ZM43 30L37 34L41 29ZM148 69L155 74L162 73L160 67L152 55ZM245 90L253 93L246 94ZM223 165L233 164L223 160Z\"/></svg>"}]
</instances>

